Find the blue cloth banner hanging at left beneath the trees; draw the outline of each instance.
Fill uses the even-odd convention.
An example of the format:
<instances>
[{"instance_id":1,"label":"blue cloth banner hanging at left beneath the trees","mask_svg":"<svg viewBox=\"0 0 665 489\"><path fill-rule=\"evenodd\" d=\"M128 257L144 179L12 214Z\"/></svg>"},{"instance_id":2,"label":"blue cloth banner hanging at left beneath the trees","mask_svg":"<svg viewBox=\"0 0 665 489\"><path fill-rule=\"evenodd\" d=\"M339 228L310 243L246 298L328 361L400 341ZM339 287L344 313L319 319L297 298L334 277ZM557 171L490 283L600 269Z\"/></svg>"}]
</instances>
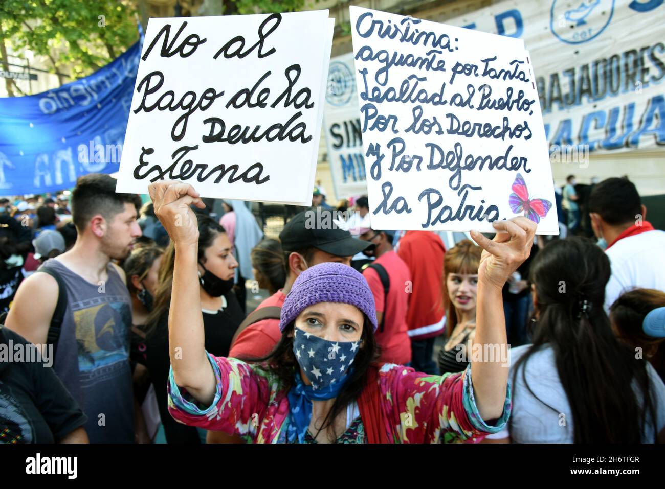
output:
<instances>
[{"instance_id":1,"label":"blue cloth banner hanging at left beneath the trees","mask_svg":"<svg viewBox=\"0 0 665 489\"><path fill-rule=\"evenodd\" d=\"M0 98L0 195L72 187L120 167L141 41L86 78Z\"/></svg>"}]
</instances>

